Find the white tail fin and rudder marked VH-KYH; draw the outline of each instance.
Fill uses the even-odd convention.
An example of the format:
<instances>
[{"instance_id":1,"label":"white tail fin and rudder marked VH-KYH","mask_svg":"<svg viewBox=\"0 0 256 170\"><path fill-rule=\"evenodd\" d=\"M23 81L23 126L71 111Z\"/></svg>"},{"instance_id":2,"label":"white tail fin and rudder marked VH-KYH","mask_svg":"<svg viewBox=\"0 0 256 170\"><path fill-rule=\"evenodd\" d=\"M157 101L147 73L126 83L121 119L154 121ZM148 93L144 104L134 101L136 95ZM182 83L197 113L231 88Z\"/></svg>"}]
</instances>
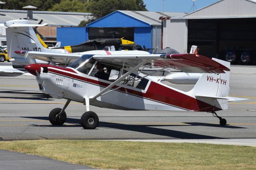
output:
<instances>
[{"instance_id":1,"label":"white tail fin and rudder marked VH-KYH","mask_svg":"<svg viewBox=\"0 0 256 170\"><path fill-rule=\"evenodd\" d=\"M213 58L214 61L230 68L230 62ZM213 111L228 109L230 71L226 73L203 73L190 95L214 106ZM207 109L207 108L206 108Z\"/></svg>"}]
</instances>

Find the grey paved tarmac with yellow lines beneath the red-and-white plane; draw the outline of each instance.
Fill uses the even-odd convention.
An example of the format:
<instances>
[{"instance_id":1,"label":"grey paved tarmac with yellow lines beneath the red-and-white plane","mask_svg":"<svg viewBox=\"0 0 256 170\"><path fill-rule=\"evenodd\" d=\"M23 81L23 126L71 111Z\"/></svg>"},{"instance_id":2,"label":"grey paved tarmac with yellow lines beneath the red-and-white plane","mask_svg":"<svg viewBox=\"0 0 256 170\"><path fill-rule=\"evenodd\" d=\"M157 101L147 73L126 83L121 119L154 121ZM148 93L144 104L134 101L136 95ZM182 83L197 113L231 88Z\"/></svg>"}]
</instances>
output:
<instances>
[{"instance_id":1,"label":"grey paved tarmac with yellow lines beneath the red-and-white plane","mask_svg":"<svg viewBox=\"0 0 256 170\"><path fill-rule=\"evenodd\" d=\"M192 88L173 86L184 91ZM85 130L80 126L84 105L71 102L66 109L66 123L53 126L48 114L56 107L62 108L66 100L47 99L33 76L0 77L0 140L94 139L256 146L255 66L231 67L230 95L248 100L230 102L228 110L218 112L228 122L224 127L209 113L119 111L92 106L100 124L95 130ZM18 152L0 150L0 155L0 170L90 169Z\"/></svg>"}]
</instances>

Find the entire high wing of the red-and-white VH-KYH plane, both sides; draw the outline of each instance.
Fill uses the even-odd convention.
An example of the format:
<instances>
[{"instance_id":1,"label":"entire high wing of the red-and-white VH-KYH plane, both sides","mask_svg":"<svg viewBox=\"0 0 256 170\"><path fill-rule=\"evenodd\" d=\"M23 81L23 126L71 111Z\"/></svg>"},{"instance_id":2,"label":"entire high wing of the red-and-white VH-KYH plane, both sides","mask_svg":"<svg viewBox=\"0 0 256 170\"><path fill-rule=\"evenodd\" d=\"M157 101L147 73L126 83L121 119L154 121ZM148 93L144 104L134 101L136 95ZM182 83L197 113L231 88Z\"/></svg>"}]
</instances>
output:
<instances>
[{"instance_id":1,"label":"entire high wing of the red-and-white VH-KYH plane, both sides","mask_svg":"<svg viewBox=\"0 0 256 170\"><path fill-rule=\"evenodd\" d=\"M48 62L53 61L54 63L73 63L82 55L41 51L29 51L26 53L26 57L33 57ZM124 65L125 67L136 67L144 62L152 67L174 67L186 73L225 73L224 71L230 71L224 65L198 54L119 54L93 55L93 58L105 63Z\"/></svg>"}]
</instances>

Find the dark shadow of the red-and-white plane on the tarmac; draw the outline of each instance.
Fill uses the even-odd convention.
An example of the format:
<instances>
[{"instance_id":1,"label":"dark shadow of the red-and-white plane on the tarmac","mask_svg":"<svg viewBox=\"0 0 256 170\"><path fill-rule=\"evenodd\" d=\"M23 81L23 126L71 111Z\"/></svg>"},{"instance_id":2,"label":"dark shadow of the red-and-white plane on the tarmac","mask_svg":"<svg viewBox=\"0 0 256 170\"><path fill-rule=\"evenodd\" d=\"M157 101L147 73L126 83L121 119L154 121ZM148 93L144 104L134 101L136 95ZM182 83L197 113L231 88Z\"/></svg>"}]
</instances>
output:
<instances>
[{"instance_id":1,"label":"dark shadow of the red-and-white plane on the tarmac","mask_svg":"<svg viewBox=\"0 0 256 170\"><path fill-rule=\"evenodd\" d=\"M40 120L48 120L48 117L24 117L28 119L40 119ZM80 119L74 118L67 118L66 123L71 123L74 125L62 125L62 126L55 126L55 127L81 127ZM209 123L186 123L190 126L207 126L207 127L219 127L219 128L243 128L243 127L236 127L236 126L220 126L214 125ZM109 122L100 122L100 128L115 128L120 130L129 130L134 132L142 132L148 134L155 134L160 136L166 136L167 138L180 138L180 139L223 139L216 136L208 136L202 134L194 134L189 132L182 132L178 130L169 130L163 129L158 127L181 127L181 126L188 126L188 125L126 125L121 123L109 123ZM53 125L41 125L41 127L54 127ZM129 138L128 138L129 139Z\"/></svg>"}]
</instances>

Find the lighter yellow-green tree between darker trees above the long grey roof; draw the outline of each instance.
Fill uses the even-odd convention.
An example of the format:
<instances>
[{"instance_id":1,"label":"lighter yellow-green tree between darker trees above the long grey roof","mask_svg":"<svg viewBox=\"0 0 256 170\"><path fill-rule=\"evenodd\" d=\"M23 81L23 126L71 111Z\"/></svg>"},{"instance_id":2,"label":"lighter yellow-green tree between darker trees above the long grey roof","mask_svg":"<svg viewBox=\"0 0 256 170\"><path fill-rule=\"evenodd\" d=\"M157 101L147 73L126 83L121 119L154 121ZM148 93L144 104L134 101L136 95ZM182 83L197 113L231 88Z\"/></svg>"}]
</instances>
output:
<instances>
[{"instance_id":1,"label":"lighter yellow-green tree between darker trees above the long grey roof","mask_svg":"<svg viewBox=\"0 0 256 170\"><path fill-rule=\"evenodd\" d=\"M81 2L80 2L81 1ZM60 11L60 12L87 12L86 7L88 2L82 0L62 0L59 4L55 4L48 11Z\"/></svg>"}]
</instances>

